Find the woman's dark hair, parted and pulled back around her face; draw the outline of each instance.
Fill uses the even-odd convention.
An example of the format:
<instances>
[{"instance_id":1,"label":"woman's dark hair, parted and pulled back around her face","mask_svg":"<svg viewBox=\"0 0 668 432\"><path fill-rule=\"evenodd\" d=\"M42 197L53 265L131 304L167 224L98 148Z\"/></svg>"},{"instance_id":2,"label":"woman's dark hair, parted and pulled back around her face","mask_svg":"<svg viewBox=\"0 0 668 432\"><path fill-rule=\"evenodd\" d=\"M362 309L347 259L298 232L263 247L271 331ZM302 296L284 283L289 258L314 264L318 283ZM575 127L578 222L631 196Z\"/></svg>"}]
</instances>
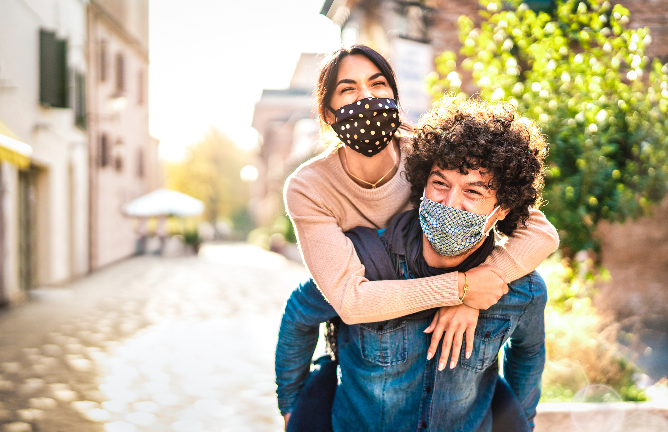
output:
<instances>
[{"instance_id":1,"label":"woman's dark hair, parted and pulled back around her face","mask_svg":"<svg viewBox=\"0 0 668 432\"><path fill-rule=\"evenodd\" d=\"M397 105L399 105L399 92L397 91L397 79L394 75L394 70L387 63L385 57L377 53L377 51L367 47L367 45L362 45L361 43L355 43L349 47L341 47L325 57L323 64L320 68L320 73L318 75L318 83L315 87L315 101L318 107L318 114L321 119L325 118L325 110L334 110L335 108L329 105L332 99L332 93L336 88L337 84L337 75L339 75L339 63L341 60L348 55L361 54L364 57L367 57L376 65L376 67L383 73L389 87L394 93L394 98L397 100Z\"/></svg>"}]
</instances>

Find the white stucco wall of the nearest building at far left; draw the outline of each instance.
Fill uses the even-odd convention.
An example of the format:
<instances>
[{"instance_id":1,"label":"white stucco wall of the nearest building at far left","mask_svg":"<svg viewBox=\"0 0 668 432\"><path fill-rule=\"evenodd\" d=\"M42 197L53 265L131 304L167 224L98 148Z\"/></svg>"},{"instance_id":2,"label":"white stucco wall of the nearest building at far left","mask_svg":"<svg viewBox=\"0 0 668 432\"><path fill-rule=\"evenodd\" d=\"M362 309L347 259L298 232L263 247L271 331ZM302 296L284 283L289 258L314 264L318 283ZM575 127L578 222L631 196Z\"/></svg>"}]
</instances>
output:
<instances>
[{"instance_id":1,"label":"white stucco wall of the nearest building at far left","mask_svg":"<svg viewBox=\"0 0 668 432\"><path fill-rule=\"evenodd\" d=\"M88 136L75 126L73 107L39 103L40 30L67 41L70 77L85 75L86 4L78 0L0 2L0 119L33 148L30 169L37 179L31 190L37 212L32 227L32 286L60 284L88 271ZM73 101L73 79L68 82ZM17 258L19 172L7 164L2 168L3 289L15 301L23 296Z\"/></svg>"}]
</instances>

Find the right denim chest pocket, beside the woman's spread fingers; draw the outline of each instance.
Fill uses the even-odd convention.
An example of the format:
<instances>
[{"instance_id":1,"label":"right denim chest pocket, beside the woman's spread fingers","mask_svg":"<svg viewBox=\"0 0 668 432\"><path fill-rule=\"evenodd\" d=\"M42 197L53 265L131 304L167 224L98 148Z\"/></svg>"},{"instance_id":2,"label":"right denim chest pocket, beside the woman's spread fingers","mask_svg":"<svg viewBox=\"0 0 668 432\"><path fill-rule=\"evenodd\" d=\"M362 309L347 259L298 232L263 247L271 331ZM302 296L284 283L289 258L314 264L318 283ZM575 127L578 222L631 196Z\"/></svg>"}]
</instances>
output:
<instances>
[{"instance_id":1,"label":"right denim chest pocket, beside the woman's spread fingers","mask_svg":"<svg viewBox=\"0 0 668 432\"><path fill-rule=\"evenodd\" d=\"M480 314L473 340L473 352L466 359L466 341L462 343L460 362L471 371L481 372L490 367L497 359L504 336L510 331L510 316Z\"/></svg>"}]
</instances>

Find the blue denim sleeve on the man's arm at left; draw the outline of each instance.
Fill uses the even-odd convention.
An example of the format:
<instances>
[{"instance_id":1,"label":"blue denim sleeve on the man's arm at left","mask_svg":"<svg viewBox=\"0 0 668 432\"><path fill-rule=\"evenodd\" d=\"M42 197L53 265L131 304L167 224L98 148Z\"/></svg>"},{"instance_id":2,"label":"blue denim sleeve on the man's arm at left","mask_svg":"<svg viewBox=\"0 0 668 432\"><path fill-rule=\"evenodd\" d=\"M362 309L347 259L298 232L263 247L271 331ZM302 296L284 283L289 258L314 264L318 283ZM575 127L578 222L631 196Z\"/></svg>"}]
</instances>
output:
<instances>
[{"instance_id":1,"label":"blue denim sleeve on the man's arm at left","mask_svg":"<svg viewBox=\"0 0 668 432\"><path fill-rule=\"evenodd\" d=\"M335 316L335 310L312 279L297 286L288 298L276 344L276 393L281 414L292 411L309 376L320 323Z\"/></svg>"}]
</instances>

